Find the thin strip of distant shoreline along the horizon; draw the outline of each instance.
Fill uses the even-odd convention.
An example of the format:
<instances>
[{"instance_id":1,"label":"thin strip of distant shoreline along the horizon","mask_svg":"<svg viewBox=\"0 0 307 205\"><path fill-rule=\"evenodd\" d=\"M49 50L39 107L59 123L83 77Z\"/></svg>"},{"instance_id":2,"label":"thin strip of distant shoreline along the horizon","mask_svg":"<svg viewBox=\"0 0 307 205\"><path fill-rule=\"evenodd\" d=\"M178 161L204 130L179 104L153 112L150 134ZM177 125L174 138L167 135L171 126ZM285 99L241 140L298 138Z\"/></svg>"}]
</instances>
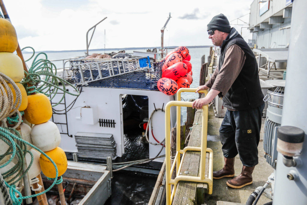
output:
<instances>
[{"instance_id":1,"label":"thin strip of distant shoreline along the horizon","mask_svg":"<svg viewBox=\"0 0 307 205\"><path fill-rule=\"evenodd\" d=\"M186 46L187 48L209 48L212 45L194 45L194 46ZM165 46L165 49L174 49L178 46ZM154 49L157 48L159 49L160 47L131 47L131 48L102 48L102 49L89 49L88 51L101 51L101 50L134 50L134 49ZM59 53L59 52L86 52L86 50L46 50L46 51L37 51L37 52L45 52L45 53ZM23 51L24 53L32 53L32 52L27 52Z\"/></svg>"}]
</instances>

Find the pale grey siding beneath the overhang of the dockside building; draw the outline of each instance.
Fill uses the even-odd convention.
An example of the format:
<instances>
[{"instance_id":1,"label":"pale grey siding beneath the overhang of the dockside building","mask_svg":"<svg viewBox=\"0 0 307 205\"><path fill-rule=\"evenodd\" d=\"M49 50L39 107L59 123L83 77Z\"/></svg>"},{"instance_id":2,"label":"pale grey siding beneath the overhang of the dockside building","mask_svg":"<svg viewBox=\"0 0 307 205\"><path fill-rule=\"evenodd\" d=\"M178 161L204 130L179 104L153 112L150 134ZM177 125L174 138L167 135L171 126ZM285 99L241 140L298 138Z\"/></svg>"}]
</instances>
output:
<instances>
[{"instance_id":1,"label":"pale grey siding beneath the overhang of the dockside building","mask_svg":"<svg viewBox=\"0 0 307 205\"><path fill-rule=\"evenodd\" d=\"M259 31L256 42L258 48L270 48L270 45L272 45L271 48L285 48L290 41L290 28L279 29L290 25L291 18L287 18L283 24L273 25L271 29Z\"/></svg>"}]
</instances>

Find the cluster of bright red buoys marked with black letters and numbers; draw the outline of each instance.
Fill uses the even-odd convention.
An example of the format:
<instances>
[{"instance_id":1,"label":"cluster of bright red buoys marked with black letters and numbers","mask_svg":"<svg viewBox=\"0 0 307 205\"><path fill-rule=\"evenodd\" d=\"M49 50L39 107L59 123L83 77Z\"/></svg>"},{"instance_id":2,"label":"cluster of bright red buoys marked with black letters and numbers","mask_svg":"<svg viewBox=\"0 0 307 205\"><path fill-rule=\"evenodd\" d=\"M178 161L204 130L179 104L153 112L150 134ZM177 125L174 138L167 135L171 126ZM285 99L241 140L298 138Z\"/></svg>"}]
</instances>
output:
<instances>
[{"instance_id":1,"label":"cluster of bright red buoys marked with black letters and numbers","mask_svg":"<svg viewBox=\"0 0 307 205\"><path fill-rule=\"evenodd\" d=\"M174 95L180 88L189 88L193 82L191 56L185 46L173 49L165 56L162 78L157 82L158 90Z\"/></svg>"}]
</instances>

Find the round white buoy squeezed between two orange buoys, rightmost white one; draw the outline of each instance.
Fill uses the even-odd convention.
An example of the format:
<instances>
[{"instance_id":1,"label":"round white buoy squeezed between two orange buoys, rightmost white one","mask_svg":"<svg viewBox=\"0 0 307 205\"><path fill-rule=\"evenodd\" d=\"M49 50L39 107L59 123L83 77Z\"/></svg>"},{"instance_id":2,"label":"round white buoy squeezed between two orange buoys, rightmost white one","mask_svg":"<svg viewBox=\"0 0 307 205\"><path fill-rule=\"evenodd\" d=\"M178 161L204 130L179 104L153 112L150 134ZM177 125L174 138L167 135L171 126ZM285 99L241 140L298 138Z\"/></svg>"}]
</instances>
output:
<instances>
[{"instance_id":1,"label":"round white buoy squeezed between two orange buoys, rightmost white one","mask_svg":"<svg viewBox=\"0 0 307 205\"><path fill-rule=\"evenodd\" d=\"M47 121L32 127L31 139L34 146L43 152L47 152L60 145L61 135L56 124Z\"/></svg>"}]
</instances>

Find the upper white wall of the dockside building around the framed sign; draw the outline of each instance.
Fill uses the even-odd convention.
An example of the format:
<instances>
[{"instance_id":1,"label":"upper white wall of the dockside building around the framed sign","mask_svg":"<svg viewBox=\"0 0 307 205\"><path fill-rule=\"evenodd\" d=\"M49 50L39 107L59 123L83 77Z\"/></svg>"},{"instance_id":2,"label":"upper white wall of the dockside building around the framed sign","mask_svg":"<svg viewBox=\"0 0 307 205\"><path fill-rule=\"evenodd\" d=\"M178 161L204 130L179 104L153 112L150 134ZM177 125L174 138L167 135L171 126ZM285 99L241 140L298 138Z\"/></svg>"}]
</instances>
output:
<instances>
[{"instance_id":1,"label":"upper white wall of the dockside building around the framed sign","mask_svg":"<svg viewBox=\"0 0 307 205\"><path fill-rule=\"evenodd\" d=\"M286 8L286 0L270 1L270 8L264 14L259 16L259 0L254 0L251 3L251 13L249 24L251 27L259 26L262 22L268 22L268 18Z\"/></svg>"}]
</instances>

